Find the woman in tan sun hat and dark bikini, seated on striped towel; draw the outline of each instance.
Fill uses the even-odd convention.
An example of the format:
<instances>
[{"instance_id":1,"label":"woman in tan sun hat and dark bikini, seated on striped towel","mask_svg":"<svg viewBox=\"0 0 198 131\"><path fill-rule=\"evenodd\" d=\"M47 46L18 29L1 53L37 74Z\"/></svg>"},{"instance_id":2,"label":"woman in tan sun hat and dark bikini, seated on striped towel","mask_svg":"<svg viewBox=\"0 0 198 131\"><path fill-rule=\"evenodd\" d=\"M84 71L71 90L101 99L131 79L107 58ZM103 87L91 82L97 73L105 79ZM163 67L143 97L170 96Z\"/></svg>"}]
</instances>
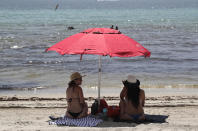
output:
<instances>
[{"instance_id":1,"label":"woman in tan sun hat and dark bikini, seated on striped towel","mask_svg":"<svg viewBox=\"0 0 198 131\"><path fill-rule=\"evenodd\" d=\"M88 106L85 103L83 91L80 85L82 84L82 76L75 72L70 76L70 82L66 90L67 112L66 116L70 118L81 118L87 116Z\"/></svg>"}]
</instances>

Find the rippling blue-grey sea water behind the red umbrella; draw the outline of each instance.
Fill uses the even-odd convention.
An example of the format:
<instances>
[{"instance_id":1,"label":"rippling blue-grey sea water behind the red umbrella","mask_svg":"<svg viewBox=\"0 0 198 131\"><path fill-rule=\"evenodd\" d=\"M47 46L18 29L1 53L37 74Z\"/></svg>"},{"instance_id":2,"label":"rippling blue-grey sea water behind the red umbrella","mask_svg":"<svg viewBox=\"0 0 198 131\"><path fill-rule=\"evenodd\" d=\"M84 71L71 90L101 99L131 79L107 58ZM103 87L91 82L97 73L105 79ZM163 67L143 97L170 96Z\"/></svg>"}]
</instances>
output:
<instances>
[{"instance_id":1,"label":"rippling blue-grey sea water behind the red umbrella","mask_svg":"<svg viewBox=\"0 0 198 131\"><path fill-rule=\"evenodd\" d=\"M97 92L98 56L80 61L45 49L87 28L111 25L151 57L103 56L102 90L122 87L127 75L144 88L198 87L197 0L0 0L0 93L62 92L75 71L86 75L84 89Z\"/></svg>"}]
</instances>

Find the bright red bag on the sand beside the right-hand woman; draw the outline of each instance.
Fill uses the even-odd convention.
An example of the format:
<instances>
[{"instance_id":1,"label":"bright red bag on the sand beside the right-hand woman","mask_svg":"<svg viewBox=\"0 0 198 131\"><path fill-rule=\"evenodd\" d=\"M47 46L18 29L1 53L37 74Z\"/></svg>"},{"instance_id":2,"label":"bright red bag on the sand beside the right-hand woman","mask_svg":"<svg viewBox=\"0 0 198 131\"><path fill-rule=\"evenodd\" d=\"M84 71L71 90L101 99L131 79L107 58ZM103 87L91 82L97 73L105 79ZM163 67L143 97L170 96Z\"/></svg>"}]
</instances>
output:
<instances>
[{"instance_id":1,"label":"bright red bag on the sand beside the right-hand woman","mask_svg":"<svg viewBox=\"0 0 198 131\"><path fill-rule=\"evenodd\" d=\"M119 106L109 106L107 111L108 117L118 117L120 115L120 107Z\"/></svg>"}]
</instances>

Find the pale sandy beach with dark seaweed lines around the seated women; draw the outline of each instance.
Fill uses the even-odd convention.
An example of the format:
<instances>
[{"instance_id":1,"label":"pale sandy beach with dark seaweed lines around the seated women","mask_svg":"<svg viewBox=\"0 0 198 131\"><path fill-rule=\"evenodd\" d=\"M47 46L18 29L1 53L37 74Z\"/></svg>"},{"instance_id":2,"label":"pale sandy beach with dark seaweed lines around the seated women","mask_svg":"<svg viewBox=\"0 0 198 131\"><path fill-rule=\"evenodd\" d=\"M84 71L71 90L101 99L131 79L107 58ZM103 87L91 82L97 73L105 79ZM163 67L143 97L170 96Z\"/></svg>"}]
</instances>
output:
<instances>
[{"instance_id":1,"label":"pale sandy beach with dark seaweed lines around the seated women","mask_svg":"<svg viewBox=\"0 0 198 131\"><path fill-rule=\"evenodd\" d=\"M86 97L89 107L93 97ZM118 97L105 97L109 105L118 105ZM168 116L163 123L125 123L111 120L97 127L69 127L49 125L49 116L63 116L64 97L1 96L0 130L198 130L198 95L148 96L145 113Z\"/></svg>"}]
</instances>

